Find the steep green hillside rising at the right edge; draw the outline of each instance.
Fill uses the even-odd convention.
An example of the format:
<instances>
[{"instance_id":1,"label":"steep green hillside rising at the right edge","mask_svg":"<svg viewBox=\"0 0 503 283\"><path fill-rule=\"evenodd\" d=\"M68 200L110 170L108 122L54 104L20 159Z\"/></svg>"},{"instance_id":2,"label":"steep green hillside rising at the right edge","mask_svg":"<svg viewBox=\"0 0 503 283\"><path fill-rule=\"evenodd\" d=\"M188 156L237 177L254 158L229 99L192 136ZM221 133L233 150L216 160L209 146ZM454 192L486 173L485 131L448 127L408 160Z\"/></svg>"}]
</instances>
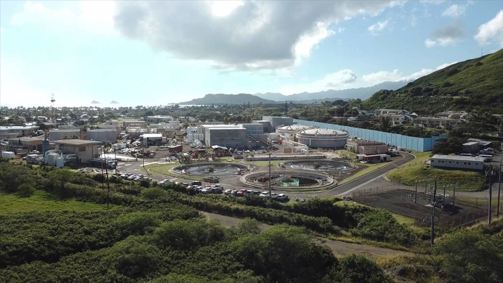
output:
<instances>
[{"instance_id":1,"label":"steep green hillside rising at the right edge","mask_svg":"<svg viewBox=\"0 0 503 283\"><path fill-rule=\"evenodd\" d=\"M490 107L503 113L503 49L459 62L421 77L396 91L382 90L368 106L438 112Z\"/></svg>"}]
</instances>

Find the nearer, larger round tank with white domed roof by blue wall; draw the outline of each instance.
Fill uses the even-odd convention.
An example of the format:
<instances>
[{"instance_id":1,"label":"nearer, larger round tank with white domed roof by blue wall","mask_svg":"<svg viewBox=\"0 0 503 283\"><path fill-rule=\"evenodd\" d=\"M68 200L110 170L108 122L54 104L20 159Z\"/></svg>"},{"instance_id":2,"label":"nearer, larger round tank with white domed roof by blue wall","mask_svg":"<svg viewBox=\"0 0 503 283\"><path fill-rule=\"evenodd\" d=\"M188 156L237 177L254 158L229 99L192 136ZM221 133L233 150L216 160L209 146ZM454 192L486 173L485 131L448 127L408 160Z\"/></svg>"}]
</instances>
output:
<instances>
[{"instance_id":1,"label":"nearer, larger round tank with white domed roof by blue wall","mask_svg":"<svg viewBox=\"0 0 503 283\"><path fill-rule=\"evenodd\" d=\"M309 129L297 133L299 143L310 148L344 148L348 139L348 132L332 129Z\"/></svg>"}]
</instances>

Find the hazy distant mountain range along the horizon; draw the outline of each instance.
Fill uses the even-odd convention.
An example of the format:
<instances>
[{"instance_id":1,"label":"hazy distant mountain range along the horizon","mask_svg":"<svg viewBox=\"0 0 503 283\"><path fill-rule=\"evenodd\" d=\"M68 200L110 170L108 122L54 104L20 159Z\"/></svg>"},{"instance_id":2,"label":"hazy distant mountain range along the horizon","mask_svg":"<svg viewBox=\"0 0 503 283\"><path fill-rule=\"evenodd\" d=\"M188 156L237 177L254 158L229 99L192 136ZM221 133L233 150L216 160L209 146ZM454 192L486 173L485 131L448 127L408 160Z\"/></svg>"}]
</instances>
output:
<instances>
[{"instance_id":1,"label":"hazy distant mountain range along the horizon","mask_svg":"<svg viewBox=\"0 0 503 283\"><path fill-rule=\"evenodd\" d=\"M207 105L207 104L274 104L296 102L303 104L318 103L322 101L349 100L349 99L367 99L375 92L387 89L395 90L403 87L406 82L384 82L372 87L346 89L346 90L326 90L321 92L303 92L292 95L283 95L281 93L257 93L251 94L207 94L202 98L196 98L190 101L181 102L181 105Z\"/></svg>"}]
</instances>

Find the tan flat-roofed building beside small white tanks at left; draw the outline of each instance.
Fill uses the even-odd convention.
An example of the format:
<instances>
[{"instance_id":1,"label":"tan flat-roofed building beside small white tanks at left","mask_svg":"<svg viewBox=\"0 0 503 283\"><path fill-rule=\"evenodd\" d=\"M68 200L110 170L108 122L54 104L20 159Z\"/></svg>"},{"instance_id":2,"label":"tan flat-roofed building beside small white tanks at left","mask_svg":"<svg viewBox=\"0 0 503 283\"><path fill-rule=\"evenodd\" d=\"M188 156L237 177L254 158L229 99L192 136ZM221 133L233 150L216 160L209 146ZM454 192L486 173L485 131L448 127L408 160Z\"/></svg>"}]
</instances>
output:
<instances>
[{"instance_id":1,"label":"tan flat-roofed building beside small white tanks at left","mask_svg":"<svg viewBox=\"0 0 503 283\"><path fill-rule=\"evenodd\" d=\"M56 140L56 151L63 154L75 154L77 163L89 163L91 158L97 158L100 155L100 142L83 139L63 139Z\"/></svg>"}]
</instances>

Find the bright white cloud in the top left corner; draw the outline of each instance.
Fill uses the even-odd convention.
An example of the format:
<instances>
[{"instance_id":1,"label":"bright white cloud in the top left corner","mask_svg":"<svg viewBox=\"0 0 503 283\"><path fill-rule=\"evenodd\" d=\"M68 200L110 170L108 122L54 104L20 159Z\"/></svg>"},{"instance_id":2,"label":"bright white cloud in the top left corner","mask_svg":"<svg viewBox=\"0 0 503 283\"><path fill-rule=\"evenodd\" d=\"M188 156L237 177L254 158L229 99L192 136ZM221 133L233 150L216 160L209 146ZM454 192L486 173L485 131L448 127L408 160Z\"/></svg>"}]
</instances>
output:
<instances>
[{"instance_id":1,"label":"bright white cloud in the top left corner","mask_svg":"<svg viewBox=\"0 0 503 283\"><path fill-rule=\"evenodd\" d=\"M114 29L114 15L116 2L114 1L79 1L78 11L71 9L50 9L42 2L27 1L23 10L11 18L13 25L40 25L51 30L79 29L95 33L110 33Z\"/></svg>"}]
</instances>

